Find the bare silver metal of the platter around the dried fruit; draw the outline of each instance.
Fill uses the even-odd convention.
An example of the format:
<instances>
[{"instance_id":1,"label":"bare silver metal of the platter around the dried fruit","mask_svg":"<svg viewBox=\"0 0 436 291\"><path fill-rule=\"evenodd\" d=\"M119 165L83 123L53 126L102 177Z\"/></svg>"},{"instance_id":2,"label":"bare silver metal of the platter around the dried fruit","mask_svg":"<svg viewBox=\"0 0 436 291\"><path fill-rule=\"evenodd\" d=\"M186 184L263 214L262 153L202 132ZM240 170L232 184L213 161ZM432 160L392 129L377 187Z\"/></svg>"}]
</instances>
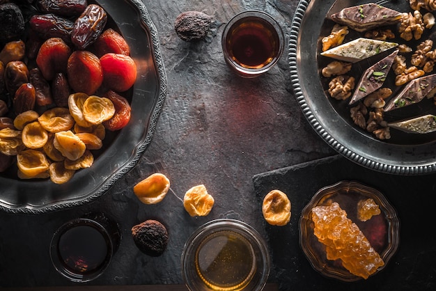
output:
<instances>
[{"instance_id":1,"label":"bare silver metal of the platter around the dried fruit","mask_svg":"<svg viewBox=\"0 0 436 291\"><path fill-rule=\"evenodd\" d=\"M95 200L137 164L155 132L166 97L166 75L157 31L146 7L140 0L88 3L104 9L107 27L118 31L130 47L137 67L136 81L123 92L131 106L130 121L120 130L107 130L92 166L76 171L68 182L22 180L16 166L0 173L0 208L6 212L38 214Z\"/></svg>"}]
</instances>

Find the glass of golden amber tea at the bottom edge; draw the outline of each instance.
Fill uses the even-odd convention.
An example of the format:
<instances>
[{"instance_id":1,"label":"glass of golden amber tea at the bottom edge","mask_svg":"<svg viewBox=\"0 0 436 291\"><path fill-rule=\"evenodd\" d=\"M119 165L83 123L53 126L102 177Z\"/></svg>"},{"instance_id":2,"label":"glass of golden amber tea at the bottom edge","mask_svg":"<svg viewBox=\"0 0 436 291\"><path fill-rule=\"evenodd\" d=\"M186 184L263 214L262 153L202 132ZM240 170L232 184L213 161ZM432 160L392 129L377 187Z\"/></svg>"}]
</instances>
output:
<instances>
[{"instance_id":1,"label":"glass of golden amber tea at the bottom edge","mask_svg":"<svg viewBox=\"0 0 436 291\"><path fill-rule=\"evenodd\" d=\"M234 219L205 223L182 253L182 277L191 291L262 290L269 274L265 241L247 223Z\"/></svg>"}]
</instances>

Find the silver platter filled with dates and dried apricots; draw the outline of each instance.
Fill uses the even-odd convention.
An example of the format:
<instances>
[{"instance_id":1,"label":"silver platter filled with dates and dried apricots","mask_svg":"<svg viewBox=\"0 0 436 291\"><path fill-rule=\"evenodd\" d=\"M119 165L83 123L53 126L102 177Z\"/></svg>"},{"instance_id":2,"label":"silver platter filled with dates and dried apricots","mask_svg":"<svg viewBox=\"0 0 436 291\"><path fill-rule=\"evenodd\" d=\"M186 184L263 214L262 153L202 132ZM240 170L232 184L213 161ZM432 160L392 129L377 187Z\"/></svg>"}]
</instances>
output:
<instances>
[{"instance_id":1,"label":"silver platter filled with dates and dried apricots","mask_svg":"<svg viewBox=\"0 0 436 291\"><path fill-rule=\"evenodd\" d=\"M8 1L0 16L0 208L42 213L98 198L137 164L166 97L146 7Z\"/></svg>"}]
</instances>

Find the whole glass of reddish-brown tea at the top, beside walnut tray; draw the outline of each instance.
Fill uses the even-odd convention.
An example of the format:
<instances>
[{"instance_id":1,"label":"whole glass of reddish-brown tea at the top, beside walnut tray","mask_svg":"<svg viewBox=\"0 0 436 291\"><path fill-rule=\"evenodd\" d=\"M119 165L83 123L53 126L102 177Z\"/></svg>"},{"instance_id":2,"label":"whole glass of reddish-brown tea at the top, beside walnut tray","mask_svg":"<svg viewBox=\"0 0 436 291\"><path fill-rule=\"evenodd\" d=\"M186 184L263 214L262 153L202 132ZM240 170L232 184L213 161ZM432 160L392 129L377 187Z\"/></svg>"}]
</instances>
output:
<instances>
[{"instance_id":1,"label":"whole glass of reddish-brown tea at the top, beside walnut tray","mask_svg":"<svg viewBox=\"0 0 436 291\"><path fill-rule=\"evenodd\" d=\"M254 78L279 61L284 36L280 25L270 15L247 10L226 24L221 45L229 67L241 77Z\"/></svg>"}]
</instances>

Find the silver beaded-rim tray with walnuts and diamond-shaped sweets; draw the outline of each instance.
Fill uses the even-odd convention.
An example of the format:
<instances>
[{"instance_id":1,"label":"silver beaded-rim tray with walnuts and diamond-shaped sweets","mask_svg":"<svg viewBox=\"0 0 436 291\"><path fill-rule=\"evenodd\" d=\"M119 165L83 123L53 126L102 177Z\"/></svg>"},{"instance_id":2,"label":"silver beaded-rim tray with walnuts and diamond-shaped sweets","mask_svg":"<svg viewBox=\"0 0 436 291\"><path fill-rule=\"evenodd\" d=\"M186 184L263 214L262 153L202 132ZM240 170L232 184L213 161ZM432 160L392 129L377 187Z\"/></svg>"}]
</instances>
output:
<instances>
[{"instance_id":1,"label":"silver beaded-rim tray with walnuts and diamond-shaped sweets","mask_svg":"<svg viewBox=\"0 0 436 291\"><path fill-rule=\"evenodd\" d=\"M436 171L434 11L425 0L299 2L294 93L345 157L386 173Z\"/></svg>"}]
</instances>

